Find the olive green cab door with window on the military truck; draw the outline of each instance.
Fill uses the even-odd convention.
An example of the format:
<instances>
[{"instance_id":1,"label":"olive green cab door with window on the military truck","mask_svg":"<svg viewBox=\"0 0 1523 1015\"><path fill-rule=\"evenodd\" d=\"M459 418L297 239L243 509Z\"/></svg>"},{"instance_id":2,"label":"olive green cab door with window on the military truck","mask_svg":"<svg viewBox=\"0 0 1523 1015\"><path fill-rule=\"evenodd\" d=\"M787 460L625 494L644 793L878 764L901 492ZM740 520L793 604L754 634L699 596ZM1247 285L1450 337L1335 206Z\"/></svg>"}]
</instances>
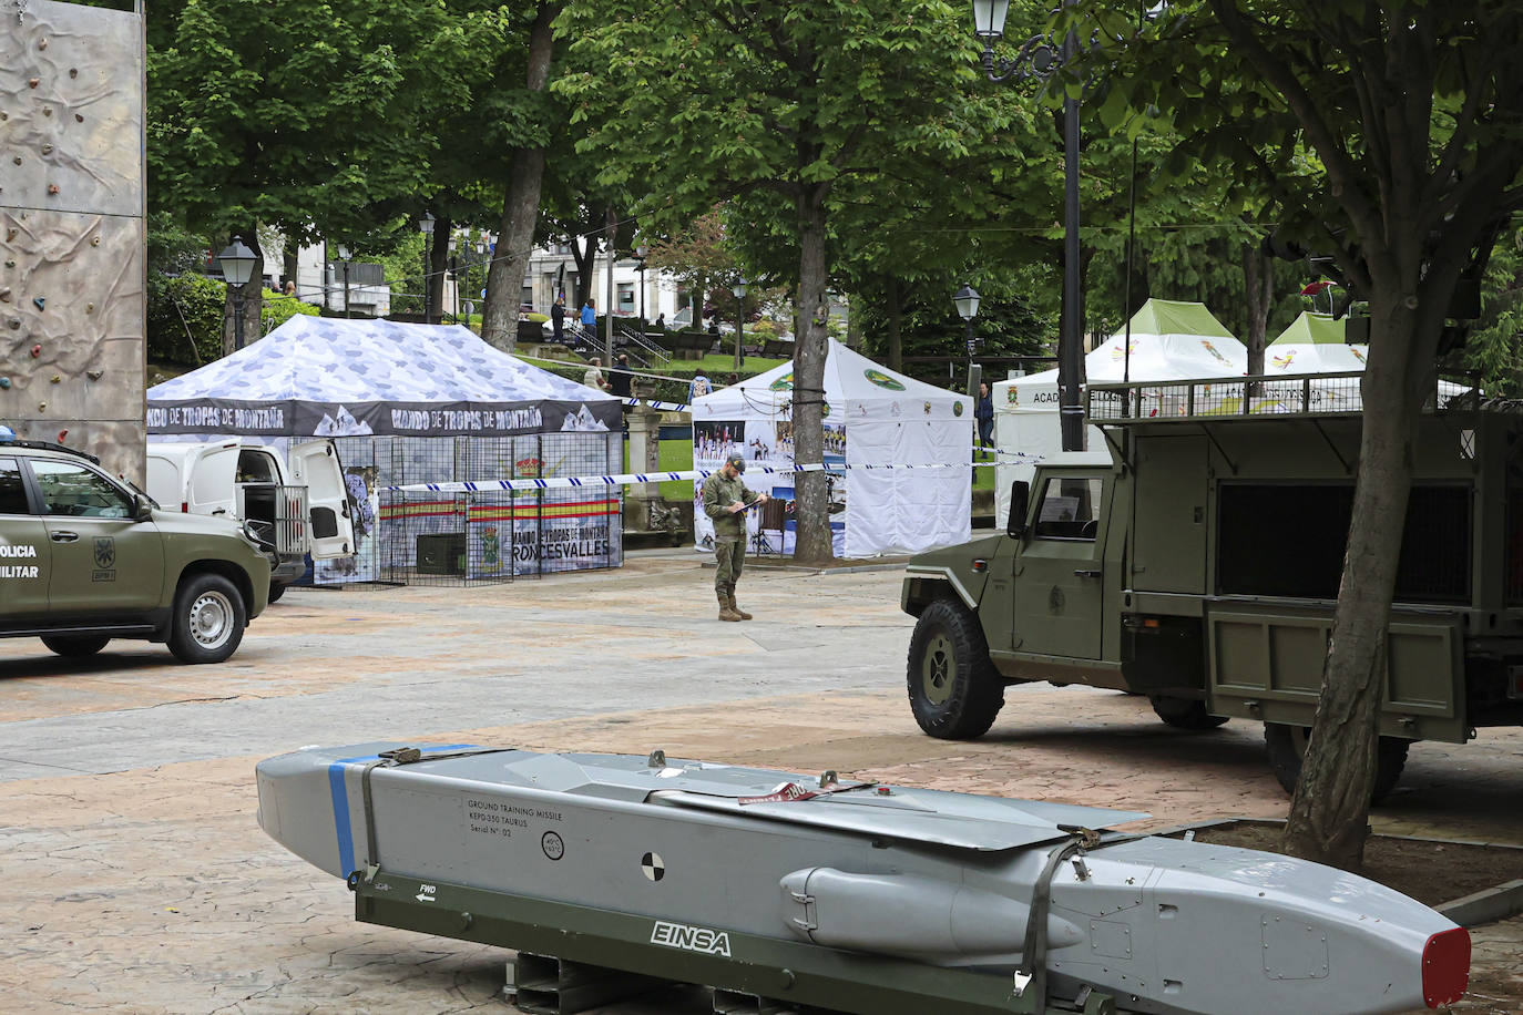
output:
<instances>
[{"instance_id":1,"label":"olive green cab door with window on the military truck","mask_svg":"<svg viewBox=\"0 0 1523 1015\"><path fill-rule=\"evenodd\" d=\"M1011 647L1100 659L1110 482L1103 475L1048 475L1034 493L1033 525L1014 560Z\"/></svg>"}]
</instances>

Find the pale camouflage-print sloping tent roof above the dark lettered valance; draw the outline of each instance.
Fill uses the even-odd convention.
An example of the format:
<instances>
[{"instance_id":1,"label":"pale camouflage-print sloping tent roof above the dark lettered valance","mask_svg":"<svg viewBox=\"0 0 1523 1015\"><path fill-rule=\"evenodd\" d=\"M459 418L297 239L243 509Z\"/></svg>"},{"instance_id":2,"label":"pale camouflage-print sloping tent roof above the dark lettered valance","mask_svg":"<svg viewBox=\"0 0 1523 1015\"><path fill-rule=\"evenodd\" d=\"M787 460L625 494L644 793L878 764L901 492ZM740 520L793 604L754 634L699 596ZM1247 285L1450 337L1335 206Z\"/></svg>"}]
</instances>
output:
<instances>
[{"instance_id":1,"label":"pale camouflage-print sloping tent roof above the dark lettered valance","mask_svg":"<svg viewBox=\"0 0 1523 1015\"><path fill-rule=\"evenodd\" d=\"M576 402L615 400L532 367L458 324L299 315L247 345L148 390L148 400Z\"/></svg>"}]
</instances>

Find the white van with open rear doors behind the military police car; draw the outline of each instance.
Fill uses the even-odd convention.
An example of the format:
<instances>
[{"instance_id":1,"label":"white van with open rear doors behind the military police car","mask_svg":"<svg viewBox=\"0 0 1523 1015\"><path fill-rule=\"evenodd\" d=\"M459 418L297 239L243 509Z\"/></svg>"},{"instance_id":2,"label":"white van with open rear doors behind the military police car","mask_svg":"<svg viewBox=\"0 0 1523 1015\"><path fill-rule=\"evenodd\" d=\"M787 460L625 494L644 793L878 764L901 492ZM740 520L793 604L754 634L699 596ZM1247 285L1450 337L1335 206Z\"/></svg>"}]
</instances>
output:
<instances>
[{"instance_id":1,"label":"white van with open rear doors behind the military police car","mask_svg":"<svg viewBox=\"0 0 1523 1015\"><path fill-rule=\"evenodd\" d=\"M263 444L149 443L148 496L166 511L248 519L268 534L270 601L306 571L306 555L355 552L349 490L330 440L291 447L289 464ZM268 527L268 528L267 528Z\"/></svg>"}]
</instances>

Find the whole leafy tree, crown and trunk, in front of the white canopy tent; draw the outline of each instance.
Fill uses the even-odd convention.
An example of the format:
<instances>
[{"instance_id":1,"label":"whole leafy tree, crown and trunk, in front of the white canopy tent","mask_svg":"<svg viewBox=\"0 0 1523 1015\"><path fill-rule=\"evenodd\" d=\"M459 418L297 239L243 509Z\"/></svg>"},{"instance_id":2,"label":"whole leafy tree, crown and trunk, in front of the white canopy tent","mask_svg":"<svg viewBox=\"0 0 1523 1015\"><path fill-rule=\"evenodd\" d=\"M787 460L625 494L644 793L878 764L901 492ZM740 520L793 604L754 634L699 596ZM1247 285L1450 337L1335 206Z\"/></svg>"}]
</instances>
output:
<instances>
[{"instance_id":1,"label":"whole leafy tree, crown and trunk, in front of the white canopy tent","mask_svg":"<svg viewBox=\"0 0 1523 1015\"><path fill-rule=\"evenodd\" d=\"M915 142L970 79L961 11L944 0L586 0L567 15L588 68L557 87L574 119L602 125L591 145L624 155L605 178L638 178L659 195L643 221L649 212L682 222L751 190L786 204L798 251L797 457L821 463L830 198ZM798 505L798 557L830 558L822 473L801 476Z\"/></svg>"}]
</instances>

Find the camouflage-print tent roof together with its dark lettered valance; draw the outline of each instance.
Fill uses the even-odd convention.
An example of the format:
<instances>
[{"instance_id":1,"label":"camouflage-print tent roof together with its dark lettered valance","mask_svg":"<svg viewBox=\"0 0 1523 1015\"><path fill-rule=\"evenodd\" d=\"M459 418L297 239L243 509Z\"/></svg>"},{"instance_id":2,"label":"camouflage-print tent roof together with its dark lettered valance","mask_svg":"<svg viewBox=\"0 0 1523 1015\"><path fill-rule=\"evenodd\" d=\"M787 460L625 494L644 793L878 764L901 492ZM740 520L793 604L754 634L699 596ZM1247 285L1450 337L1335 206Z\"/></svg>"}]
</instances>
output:
<instances>
[{"instance_id":1,"label":"camouflage-print tent roof together with its dark lettered valance","mask_svg":"<svg viewBox=\"0 0 1523 1015\"><path fill-rule=\"evenodd\" d=\"M292 317L148 391L154 434L504 435L608 431L620 400L458 324Z\"/></svg>"}]
</instances>

